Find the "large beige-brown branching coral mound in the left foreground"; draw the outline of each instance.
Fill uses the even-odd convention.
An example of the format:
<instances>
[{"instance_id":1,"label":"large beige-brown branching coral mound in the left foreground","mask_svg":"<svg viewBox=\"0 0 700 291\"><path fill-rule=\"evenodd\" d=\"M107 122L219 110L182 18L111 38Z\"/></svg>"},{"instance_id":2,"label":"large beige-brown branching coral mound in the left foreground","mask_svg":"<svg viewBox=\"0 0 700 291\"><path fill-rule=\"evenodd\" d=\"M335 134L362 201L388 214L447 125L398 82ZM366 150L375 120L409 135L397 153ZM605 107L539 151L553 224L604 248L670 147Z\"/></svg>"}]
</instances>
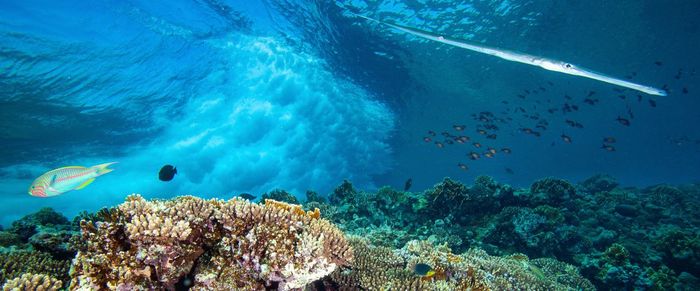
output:
<instances>
[{"instance_id":1,"label":"large beige-brown branching coral mound in the left foreground","mask_svg":"<svg viewBox=\"0 0 700 291\"><path fill-rule=\"evenodd\" d=\"M318 209L273 200L132 195L103 216L81 222L72 290L300 289L353 259Z\"/></svg>"}]
</instances>

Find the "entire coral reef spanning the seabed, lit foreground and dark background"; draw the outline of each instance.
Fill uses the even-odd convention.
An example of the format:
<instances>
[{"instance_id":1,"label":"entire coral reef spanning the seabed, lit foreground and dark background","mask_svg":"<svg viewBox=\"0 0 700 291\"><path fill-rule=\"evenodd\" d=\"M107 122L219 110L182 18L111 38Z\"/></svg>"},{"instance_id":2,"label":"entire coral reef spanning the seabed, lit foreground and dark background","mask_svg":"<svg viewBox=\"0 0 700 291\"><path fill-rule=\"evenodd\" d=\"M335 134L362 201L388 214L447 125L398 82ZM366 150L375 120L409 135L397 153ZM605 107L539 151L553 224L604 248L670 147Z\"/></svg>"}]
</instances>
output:
<instances>
[{"instance_id":1,"label":"entire coral reef spanning the seabed, lit foreground and dark background","mask_svg":"<svg viewBox=\"0 0 700 291\"><path fill-rule=\"evenodd\" d=\"M42 209L0 230L0 283L30 274L73 289L700 290L699 184L624 188L596 175L515 188L480 176L421 192L343 181L326 197L308 191L304 205L269 200L297 201L284 190L263 196L130 196L73 223ZM416 274L417 264L434 272Z\"/></svg>"}]
</instances>

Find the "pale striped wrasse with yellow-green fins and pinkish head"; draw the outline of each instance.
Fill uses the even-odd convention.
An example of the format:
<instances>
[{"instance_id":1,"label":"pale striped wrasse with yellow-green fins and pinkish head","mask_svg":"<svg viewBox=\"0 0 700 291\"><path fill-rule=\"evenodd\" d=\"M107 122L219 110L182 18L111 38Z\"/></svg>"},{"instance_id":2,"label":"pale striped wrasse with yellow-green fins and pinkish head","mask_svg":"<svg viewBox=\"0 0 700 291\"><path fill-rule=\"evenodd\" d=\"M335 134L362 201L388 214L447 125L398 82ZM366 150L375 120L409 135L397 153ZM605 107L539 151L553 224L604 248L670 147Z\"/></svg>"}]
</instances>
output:
<instances>
[{"instance_id":1,"label":"pale striped wrasse with yellow-green fins and pinkish head","mask_svg":"<svg viewBox=\"0 0 700 291\"><path fill-rule=\"evenodd\" d=\"M80 190L95 181L95 178L107 174L113 169L108 169L105 163L89 168L70 166L48 171L36 178L29 187L29 195L35 197L51 197L66 193L70 190Z\"/></svg>"}]
</instances>

